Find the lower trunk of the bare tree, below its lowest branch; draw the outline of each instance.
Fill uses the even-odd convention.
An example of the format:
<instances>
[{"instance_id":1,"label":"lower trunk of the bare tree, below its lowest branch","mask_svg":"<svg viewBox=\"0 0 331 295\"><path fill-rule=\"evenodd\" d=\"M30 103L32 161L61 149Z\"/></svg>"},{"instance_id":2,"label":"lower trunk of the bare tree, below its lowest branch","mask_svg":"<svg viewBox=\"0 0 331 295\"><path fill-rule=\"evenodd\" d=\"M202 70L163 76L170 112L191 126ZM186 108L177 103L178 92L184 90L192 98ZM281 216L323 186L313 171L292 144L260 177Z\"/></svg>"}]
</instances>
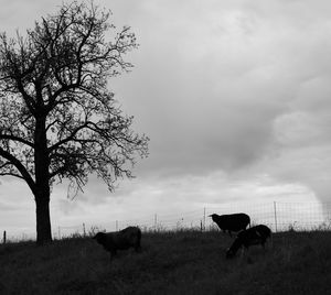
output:
<instances>
[{"instance_id":1,"label":"lower trunk of the bare tree, below its lowest branch","mask_svg":"<svg viewBox=\"0 0 331 295\"><path fill-rule=\"evenodd\" d=\"M36 212L36 243L45 244L52 241L51 218L50 218L50 196L35 196Z\"/></svg>"}]
</instances>

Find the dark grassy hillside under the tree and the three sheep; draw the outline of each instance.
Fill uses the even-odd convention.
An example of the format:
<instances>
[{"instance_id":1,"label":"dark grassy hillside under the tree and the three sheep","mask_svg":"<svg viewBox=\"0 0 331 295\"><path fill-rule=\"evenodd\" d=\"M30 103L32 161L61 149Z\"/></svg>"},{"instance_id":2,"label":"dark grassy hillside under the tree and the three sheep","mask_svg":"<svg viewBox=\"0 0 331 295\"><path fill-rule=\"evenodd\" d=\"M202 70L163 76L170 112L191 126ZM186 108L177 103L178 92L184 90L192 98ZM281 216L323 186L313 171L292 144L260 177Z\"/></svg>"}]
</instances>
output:
<instances>
[{"instance_id":1,"label":"dark grassy hillside under the tree and the three sheep","mask_svg":"<svg viewBox=\"0 0 331 295\"><path fill-rule=\"evenodd\" d=\"M145 233L109 255L86 238L0 245L0 294L331 294L331 232L282 232L225 259L222 232Z\"/></svg>"}]
</instances>

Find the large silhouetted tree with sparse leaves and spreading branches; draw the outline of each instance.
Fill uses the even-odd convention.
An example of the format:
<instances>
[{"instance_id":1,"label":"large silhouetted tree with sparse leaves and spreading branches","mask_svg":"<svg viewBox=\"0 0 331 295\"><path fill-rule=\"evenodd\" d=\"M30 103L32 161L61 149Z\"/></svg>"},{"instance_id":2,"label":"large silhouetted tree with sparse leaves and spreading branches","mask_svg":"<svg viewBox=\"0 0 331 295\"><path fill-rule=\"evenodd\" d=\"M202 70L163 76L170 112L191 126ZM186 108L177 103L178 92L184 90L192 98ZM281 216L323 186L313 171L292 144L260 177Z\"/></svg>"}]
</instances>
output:
<instances>
[{"instance_id":1,"label":"large silhouetted tree with sparse leaves and spreading branches","mask_svg":"<svg viewBox=\"0 0 331 295\"><path fill-rule=\"evenodd\" d=\"M148 154L148 138L131 130L132 117L107 88L109 77L132 67L122 57L137 47L130 28L117 31L110 15L93 2L73 2L24 37L0 35L0 176L21 178L32 190L41 244L52 241L54 182L67 178L77 192L94 173L113 190Z\"/></svg>"}]
</instances>

